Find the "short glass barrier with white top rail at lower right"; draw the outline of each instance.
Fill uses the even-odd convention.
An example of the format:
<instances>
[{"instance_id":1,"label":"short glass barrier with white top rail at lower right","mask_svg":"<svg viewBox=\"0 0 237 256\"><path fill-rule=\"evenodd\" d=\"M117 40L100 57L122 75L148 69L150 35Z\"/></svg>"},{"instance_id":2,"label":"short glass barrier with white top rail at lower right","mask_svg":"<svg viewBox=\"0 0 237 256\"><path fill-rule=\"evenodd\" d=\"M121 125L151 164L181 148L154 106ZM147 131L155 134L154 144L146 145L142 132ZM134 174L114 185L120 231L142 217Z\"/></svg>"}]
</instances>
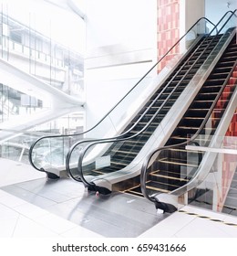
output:
<instances>
[{"instance_id":1,"label":"short glass barrier with white top rail at lower right","mask_svg":"<svg viewBox=\"0 0 237 256\"><path fill-rule=\"evenodd\" d=\"M211 144L206 146L209 140ZM193 162L192 152L199 151L204 156L197 175L199 180L195 187L187 186L183 203L236 215L237 137L200 135L195 141L201 145L187 146L188 162Z\"/></svg>"}]
</instances>

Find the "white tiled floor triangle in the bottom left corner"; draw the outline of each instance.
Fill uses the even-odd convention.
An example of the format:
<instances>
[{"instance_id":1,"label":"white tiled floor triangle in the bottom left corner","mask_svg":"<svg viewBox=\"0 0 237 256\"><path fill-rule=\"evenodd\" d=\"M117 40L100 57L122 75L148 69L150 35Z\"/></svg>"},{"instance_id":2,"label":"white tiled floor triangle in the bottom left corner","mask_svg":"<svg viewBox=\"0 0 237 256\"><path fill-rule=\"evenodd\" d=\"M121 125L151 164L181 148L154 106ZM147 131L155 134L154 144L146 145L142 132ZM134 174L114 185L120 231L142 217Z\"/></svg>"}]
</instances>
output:
<instances>
[{"instance_id":1,"label":"white tiled floor triangle in the bottom left corner","mask_svg":"<svg viewBox=\"0 0 237 256\"><path fill-rule=\"evenodd\" d=\"M0 190L0 237L101 237Z\"/></svg>"}]
</instances>

